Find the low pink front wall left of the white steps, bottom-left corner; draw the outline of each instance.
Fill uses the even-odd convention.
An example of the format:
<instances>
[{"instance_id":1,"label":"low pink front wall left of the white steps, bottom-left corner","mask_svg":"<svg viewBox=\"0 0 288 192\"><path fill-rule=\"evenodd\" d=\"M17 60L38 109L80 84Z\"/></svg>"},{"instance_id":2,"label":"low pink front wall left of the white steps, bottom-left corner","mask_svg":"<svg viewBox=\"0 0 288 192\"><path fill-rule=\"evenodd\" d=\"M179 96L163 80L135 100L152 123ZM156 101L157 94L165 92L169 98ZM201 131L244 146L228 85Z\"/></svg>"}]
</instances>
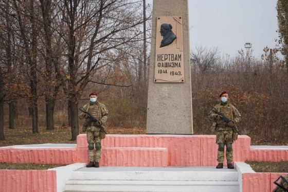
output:
<instances>
[{"instance_id":1,"label":"low pink front wall left of the white steps, bottom-left corner","mask_svg":"<svg viewBox=\"0 0 288 192\"><path fill-rule=\"evenodd\" d=\"M55 170L0 169L0 191L56 192Z\"/></svg>"}]
</instances>

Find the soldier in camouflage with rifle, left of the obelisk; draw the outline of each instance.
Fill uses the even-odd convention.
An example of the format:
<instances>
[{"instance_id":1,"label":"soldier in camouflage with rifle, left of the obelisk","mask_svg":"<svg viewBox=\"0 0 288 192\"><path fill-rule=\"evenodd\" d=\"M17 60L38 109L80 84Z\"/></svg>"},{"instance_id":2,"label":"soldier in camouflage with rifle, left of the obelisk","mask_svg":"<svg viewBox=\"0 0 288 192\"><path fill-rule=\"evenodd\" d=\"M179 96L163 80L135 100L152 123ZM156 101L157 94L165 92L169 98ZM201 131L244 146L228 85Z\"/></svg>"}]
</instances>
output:
<instances>
[{"instance_id":1,"label":"soldier in camouflage with rifle, left of the obelisk","mask_svg":"<svg viewBox=\"0 0 288 192\"><path fill-rule=\"evenodd\" d=\"M88 126L89 116L83 112L80 112L79 118L85 118L83 123L83 131L86 131L87 142L88 142L88 158L89 164L86 167L99 167L99 160L101 158L101 139L105 138L105 133L102 132L99 128L103 123L105 123L109 118L109 113L104 104L98 102L97 93L89 94L90 101L89 103L83 106L84 110L91 113L96 119L97 122L92 122L91 126ZM104 136L103 136L104 135ZM94 143L96 148L96 153L94 152ZM95 164L94 164L94 156Z\"/></svg>"}]
</instances>

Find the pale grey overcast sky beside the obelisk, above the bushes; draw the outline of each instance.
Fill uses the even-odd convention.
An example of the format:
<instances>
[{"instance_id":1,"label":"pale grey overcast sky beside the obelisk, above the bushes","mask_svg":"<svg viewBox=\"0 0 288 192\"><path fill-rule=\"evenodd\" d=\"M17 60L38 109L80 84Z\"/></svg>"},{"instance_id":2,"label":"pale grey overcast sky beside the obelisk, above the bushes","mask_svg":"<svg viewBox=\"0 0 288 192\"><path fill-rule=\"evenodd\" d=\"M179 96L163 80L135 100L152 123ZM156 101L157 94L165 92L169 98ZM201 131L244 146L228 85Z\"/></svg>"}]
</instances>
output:
<instances>
[{"instance_id":1,"label":"pale grey overcast sky beside the obelisk, above the bushes","mask_svg":"<svg viewBox=\"0 0 288 192\"><path fill-rule=\"evenodd\" d=\"M157 0L155 0L157 1ZM152 0L146 0L146 4ZM189 0L190 47L218 47L221 55L238 56L251 43L254 56L275 48L277 0Z\"/></svg>"}]
</instances>

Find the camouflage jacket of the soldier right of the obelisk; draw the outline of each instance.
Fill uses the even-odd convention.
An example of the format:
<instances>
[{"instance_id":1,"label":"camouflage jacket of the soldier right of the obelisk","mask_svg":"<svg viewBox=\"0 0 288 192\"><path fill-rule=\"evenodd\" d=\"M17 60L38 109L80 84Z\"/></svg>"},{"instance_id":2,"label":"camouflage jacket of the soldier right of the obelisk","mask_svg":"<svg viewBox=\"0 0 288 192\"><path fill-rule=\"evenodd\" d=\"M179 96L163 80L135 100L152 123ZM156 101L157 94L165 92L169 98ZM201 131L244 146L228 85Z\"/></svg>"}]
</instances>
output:
<instances>
[{"instance_id":1,"label":"camouflage jacket of the soldier right of the obelisk","mask_svg":"<svg viewBox=\"0 0 288 192\"><path fill-rule=\"evenodd\" d=\"M235 124L240 123L240 121L242 120L242 117L241 117L241 114L239 113L239 111L236 109L236 107L234 107L229 102L225 102L225 103L220 102L216 106L214 106L214 108L217 109L218 111L220 109L219 112L225 114L225 116L228 119L233 120L235 122ZM232 115L231 115L231 112L232 112ZM208 118L210 121L217 123L216 130L217 131L230 130L231 128L227 126L226 122L223 124L223 127L219 127L222 119L220 119L220 120L215 119L213 117L215 114L216 114L215 112L210 110L210 112L208 114ZM231 119L231 117L233 117L233 119Z\"/></svg>"}]
</instances>

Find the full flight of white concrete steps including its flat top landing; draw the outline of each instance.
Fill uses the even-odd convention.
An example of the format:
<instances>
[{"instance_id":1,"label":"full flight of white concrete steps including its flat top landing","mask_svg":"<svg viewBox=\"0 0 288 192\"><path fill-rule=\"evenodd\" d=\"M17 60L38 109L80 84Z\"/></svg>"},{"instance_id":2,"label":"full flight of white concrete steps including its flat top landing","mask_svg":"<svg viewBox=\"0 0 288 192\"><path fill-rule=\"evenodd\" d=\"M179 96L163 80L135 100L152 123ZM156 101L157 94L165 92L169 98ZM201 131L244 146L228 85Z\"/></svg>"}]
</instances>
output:
<instances>
[{"instance_id":1,"label":"full flight of white concrete steps including its flat top landing","mask_svg":"<svg viewBox=\"0 0 288 192\"><path fill-rule=\"evenodd\" d=\"M68 191L240 191L236 169L214 167L80 168L66 182Z\"/></svg>"}]
</instances>

